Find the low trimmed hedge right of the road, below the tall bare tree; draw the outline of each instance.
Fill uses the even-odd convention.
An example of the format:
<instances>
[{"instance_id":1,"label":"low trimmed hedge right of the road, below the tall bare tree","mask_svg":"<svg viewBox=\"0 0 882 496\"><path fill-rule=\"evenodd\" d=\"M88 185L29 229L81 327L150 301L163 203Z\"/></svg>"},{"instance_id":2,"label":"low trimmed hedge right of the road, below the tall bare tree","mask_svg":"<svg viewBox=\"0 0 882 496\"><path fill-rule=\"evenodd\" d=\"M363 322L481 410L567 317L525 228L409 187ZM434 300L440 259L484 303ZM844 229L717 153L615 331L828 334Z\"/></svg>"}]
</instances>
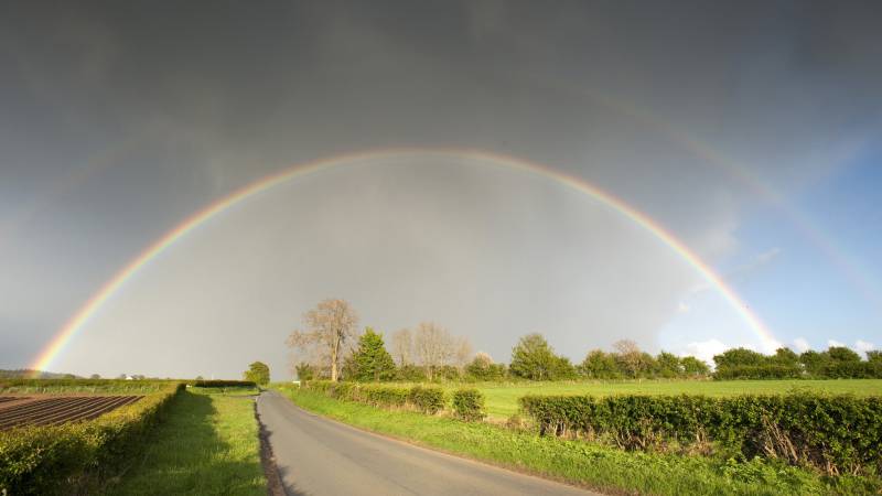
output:
<instances>
[{"instance_id":1,"label":"low trimmed hedge right of the road, below the tall bare tree","mask_svg":"<svg viewBox=\"0 0 882 496\"><path fill-rule=\"evenodd\" d=\"M330 380L309 380L301 387L331 398L358 401L374 407L409 408L430 416L444 408L444 390L437 387L362 385Z\"/></svg>"}]
</instances>

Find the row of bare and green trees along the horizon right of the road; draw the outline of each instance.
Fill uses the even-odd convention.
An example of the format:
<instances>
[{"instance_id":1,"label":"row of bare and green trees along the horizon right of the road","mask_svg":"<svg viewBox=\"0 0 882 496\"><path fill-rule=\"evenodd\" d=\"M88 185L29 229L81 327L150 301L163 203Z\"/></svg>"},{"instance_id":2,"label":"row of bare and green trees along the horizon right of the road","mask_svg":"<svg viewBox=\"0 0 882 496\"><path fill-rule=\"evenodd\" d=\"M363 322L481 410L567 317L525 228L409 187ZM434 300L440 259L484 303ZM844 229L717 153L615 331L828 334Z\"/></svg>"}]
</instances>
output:
<instances>
[{"instance_id":1,"label":"row of bare and green trees along the horizon right of the road","mask_svg":"<svg viewBox=\"0 0 882 496\"><path fill-rule=\"evenodd\" d=\"M630 339L612 352L590 351L581 363L558 355L539 333L520 337L509 363L496 363L486 353L473 353L467 337L455 336L432 322L412 331L391 333L388 347L383 333L366 327L357 332L358 316L344 300L325 300L303 317L304 328L291 333L288 345L295 353L294 373L301 380L433 381L512 379L641 379L641 378L803 378L882 377L882 355L869 352L868 360L849 348L797 355L779 348L767 356L745 348L713 357L716 371L692 356L662 352L650 355Z\"/></svg>"}]
</instances>

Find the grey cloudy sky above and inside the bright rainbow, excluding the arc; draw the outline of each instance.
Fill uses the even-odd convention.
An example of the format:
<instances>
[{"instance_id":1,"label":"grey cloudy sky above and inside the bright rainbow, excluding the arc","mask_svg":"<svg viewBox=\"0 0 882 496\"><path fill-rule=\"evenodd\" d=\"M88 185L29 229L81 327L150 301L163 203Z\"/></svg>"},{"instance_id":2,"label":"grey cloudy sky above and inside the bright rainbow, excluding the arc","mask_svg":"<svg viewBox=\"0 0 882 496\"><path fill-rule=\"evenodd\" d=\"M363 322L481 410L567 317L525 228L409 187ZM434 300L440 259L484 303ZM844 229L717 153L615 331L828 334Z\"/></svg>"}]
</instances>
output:
<instances>
[{"instance_id":1,"label":"grey cloudy sky above and inside the bright rainbow, excluding the arc","mask_svg":"<svg viewBox=\"0 0 882 496\"><path fill-rule=\"evenodd\" d=\"M718 268L787 257L745 227L771 207L671 133L786 198L811 191L879 138L878 21L871 3L839 2L7 2L0 367L26 365L191 213L362 149L540 161ZM279 370L287 333L329 296L383 331L433 320L498 359L531 331L573 358L619 337L752 343L731 311L659 341L697 285L645 231L550 181L413 158L216 218L132 279L55 368L235 376L266 357Z\"/></svg>"}]
</instances>

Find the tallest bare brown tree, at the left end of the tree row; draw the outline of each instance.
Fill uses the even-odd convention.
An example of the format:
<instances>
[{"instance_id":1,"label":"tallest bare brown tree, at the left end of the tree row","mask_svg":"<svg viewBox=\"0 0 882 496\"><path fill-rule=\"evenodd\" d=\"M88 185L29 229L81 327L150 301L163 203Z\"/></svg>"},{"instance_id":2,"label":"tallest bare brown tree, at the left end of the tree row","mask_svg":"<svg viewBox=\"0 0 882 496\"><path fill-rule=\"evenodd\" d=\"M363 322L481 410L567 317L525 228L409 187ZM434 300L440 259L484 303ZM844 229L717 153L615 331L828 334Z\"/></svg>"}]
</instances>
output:
<instances>
[{"instance_id":1,"label":"tallest bare brown tree, at the left end of the tree row","mask_svg":"<svg viewBox=\"0 0 882 496\"><path fill-rule=\"evenodd\" d=\"M331 369L331 380L337 380L337 370L345 354L351 351L358 316L345 300L325 300L303 314L305 331L294 331L288 336L288 346L302 353L312 353L315 362Z\"/></svg>"}]
</instances>

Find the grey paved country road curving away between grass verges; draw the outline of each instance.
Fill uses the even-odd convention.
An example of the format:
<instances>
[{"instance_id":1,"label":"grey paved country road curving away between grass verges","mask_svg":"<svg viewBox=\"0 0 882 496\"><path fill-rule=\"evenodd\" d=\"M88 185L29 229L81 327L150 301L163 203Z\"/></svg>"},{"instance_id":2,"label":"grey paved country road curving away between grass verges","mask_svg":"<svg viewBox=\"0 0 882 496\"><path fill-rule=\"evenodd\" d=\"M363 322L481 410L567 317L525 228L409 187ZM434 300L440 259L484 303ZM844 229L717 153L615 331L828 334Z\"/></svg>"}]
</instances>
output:
<instances>
[{"instance_id":1,"label":"grey paved country road curving away between grass verges","mask_svg":"<svg viewBox=\"0 0 882 496\"><path fill-rule=\"evenodd\" d=\"M288 495L589 495L318 417L276 391L257 410Z\"/></svg>"}]
</instances>

